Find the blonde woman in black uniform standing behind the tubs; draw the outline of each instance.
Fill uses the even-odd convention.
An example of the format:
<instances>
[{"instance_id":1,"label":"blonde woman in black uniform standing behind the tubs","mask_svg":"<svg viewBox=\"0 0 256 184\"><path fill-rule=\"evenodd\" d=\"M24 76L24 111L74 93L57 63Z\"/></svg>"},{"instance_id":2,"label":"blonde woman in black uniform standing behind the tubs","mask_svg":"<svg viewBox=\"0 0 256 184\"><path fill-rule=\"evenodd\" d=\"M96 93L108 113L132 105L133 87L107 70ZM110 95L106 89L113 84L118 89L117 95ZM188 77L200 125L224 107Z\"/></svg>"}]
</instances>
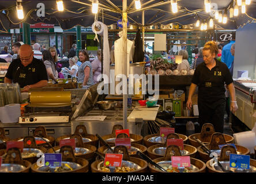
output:
<instances>
[{"instance_id":1,"label":"blonde woman in black uniform standing behind the tubs","mask_svg":"<svg viewBox=\"0 0 256 184\"><path fill-rule=\"evenodd\" d=\"M235 88L228 67L216 59L218 47L209 41L203 49L204 63L195 69L187 98L187 108L192 108L192 96L198 86L199 124L212 123L216 132L223 133L225 113L225 84L231 95L230 110L235 112Z\"/></svg>"}]
</instances>

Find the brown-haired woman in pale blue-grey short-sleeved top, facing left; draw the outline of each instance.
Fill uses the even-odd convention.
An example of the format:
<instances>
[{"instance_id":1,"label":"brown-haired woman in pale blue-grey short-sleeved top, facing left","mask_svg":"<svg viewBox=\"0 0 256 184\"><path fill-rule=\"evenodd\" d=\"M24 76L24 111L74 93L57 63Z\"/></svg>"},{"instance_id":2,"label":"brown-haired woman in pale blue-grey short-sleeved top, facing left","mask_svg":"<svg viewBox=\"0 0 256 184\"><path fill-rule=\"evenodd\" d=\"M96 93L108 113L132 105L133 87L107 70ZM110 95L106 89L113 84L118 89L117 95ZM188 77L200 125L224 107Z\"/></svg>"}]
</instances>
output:
<instances>
[{"instance_id":1,"label":"brown-haired woman in pale blue-grey short-sleeved top, facing left","mask_svg":"<svg viewBox=\"0 0 256 184\"><path fill-rule=\"evenodd\" d=\"M82 86L92 86L94 84L92 76L92 65L91 62L89 62L89 55L87 51L85 49L81 49L81 51L79 51L78 57L82 62L82 65L78 68L77 82L82 83Z\"/></svg>"}]
</instances>

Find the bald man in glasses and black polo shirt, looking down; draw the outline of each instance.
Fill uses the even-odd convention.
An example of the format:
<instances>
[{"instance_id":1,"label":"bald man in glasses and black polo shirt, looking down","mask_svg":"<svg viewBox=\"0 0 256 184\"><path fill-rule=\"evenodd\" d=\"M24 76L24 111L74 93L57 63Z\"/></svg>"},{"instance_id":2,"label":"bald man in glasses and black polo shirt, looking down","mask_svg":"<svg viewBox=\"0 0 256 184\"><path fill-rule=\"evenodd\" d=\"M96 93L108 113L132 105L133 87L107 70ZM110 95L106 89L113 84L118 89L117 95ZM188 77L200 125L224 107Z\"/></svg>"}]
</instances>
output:
<instances>
[{"instance_id":1,"label":"bald man in glasses and black polo shirt, looking down","mask_svg":"<svg viewBox=\"0 0 256 184\"><path fill-rule=\"evenodd\" d=\"M22 92L35 87L47 85L48 77L46 66L40 60L33 57L30 45L20 47L20 58L13 60L5 75L5 83L18 83Z\"/></svg>"}]
</instances>

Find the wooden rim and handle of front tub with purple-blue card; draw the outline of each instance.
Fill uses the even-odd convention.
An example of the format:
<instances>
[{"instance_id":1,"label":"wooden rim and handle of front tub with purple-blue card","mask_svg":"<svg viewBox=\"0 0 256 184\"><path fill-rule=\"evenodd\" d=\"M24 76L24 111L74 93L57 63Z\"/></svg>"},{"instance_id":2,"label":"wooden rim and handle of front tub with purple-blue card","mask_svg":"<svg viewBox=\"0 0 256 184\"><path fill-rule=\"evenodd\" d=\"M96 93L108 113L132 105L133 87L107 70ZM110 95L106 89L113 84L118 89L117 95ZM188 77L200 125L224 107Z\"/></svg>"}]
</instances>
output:
<instances>
[{"instance_id":1,"label":"wooden rim and handle of front tub with purple-blue card","mask_svg":"<svg viewBox=\"0 0 256 184\"><path fill-rule=\"evenodd\" d=\"M66 151L67 151L67 154L63 154L64 152L66 153ZM64 145L63 147L61 147L61 154L62 154L63 162L74 162L74 163L78 163L82 166L81 168L77 168L72 171L63 171L62 173L88 173L88 168L89 168L88 160L75 157L73 148L71 148L68 145ZM39 171L37 168L38 168L38 166L36 163L32 164L32 166L31 166L32 173L47 173L44 171Z\"/></svg>"}]
</instances>

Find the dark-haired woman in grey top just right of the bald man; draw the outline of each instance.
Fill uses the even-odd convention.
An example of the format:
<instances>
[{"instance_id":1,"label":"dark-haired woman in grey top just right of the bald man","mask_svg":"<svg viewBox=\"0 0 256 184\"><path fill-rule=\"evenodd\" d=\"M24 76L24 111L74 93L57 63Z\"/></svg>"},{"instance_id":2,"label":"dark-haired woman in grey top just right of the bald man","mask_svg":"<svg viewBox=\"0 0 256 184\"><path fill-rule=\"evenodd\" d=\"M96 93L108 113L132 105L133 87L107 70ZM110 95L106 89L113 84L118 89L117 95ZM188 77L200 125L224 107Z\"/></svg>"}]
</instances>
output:
<instances>
[{"instance_id":1,"label":"dark-haired woman in grey top just right of the bald man","mask_svg":"<svg viewBox=\"0 0 256 184\"><path fill-rule=\"evenodd\" d=\"M56 63L54 62L51 56L51 52L48 50L43 51L42 59L43 59L44 65L46 66L48 79L52 79L52 81L55 81L56 83L58 83L57 82L58 71L56 69Z\"/></svg>"}]
</instances>

